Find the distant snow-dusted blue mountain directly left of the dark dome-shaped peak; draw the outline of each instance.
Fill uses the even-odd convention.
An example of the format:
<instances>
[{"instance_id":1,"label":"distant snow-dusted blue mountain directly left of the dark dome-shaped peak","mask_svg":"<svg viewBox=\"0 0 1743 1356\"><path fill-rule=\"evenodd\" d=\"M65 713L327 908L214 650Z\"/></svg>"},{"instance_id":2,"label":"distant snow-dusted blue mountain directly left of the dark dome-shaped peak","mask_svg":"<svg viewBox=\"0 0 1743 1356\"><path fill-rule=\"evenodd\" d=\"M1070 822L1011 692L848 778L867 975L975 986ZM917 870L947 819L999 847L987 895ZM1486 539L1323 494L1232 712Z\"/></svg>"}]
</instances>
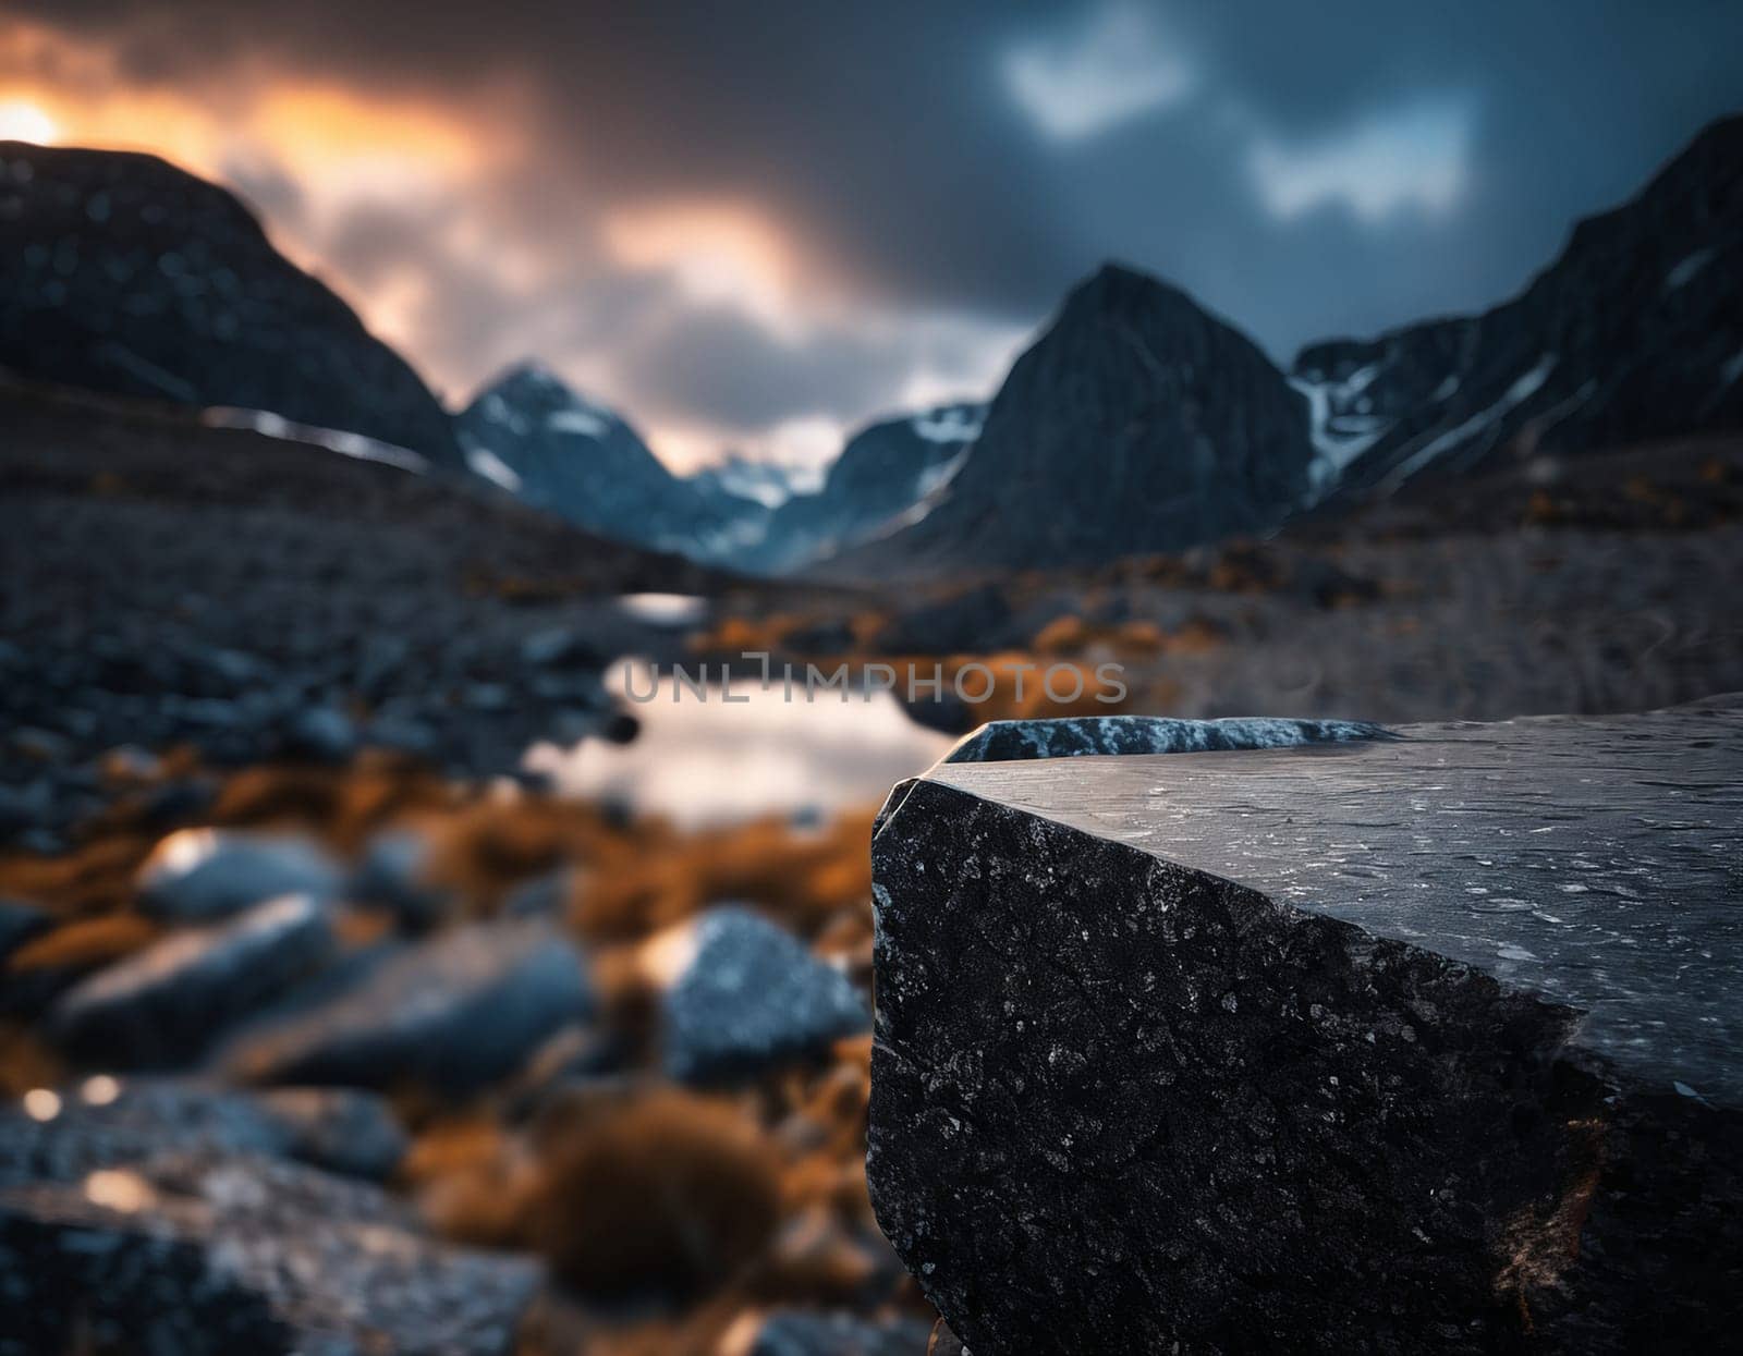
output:
<instances>
[{"instance_id":1,"label":"distant snow-dusted blue mountain directly left of the dark dome-shaped peak","mask_svg":"<svg viewBox=\"0 0 1743 1356\"><path fill-rule=\"evenodd\" d=\"M774 511L743 565L797 570L919 521L962 469L985 418L985 404L941 404L861 429L816 493Z\"/></svg>"}]
</instances>

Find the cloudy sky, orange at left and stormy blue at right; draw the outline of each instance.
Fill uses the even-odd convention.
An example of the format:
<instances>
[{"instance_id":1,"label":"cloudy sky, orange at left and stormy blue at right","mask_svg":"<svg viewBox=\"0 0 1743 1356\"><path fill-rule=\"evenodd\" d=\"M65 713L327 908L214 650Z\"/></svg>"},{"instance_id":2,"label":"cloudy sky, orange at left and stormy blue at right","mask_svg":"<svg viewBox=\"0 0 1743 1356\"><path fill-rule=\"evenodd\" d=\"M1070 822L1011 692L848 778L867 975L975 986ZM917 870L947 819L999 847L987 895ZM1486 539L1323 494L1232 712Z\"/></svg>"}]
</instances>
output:
<instances>
[{"instance_id":1,"label":"cloudy sky, orange at left and stormy blue at right","mask_svg":"<svg viewBox=\"0 0 1743 1356\"><path fill-rule=\"evenodd\" d=\"M987 397L1114 258L1286 363L1516 291L1743 110L1736 0L7 0L0 136L241 192L450 403L680 469Z\"/></svg>"}]
</instances>

